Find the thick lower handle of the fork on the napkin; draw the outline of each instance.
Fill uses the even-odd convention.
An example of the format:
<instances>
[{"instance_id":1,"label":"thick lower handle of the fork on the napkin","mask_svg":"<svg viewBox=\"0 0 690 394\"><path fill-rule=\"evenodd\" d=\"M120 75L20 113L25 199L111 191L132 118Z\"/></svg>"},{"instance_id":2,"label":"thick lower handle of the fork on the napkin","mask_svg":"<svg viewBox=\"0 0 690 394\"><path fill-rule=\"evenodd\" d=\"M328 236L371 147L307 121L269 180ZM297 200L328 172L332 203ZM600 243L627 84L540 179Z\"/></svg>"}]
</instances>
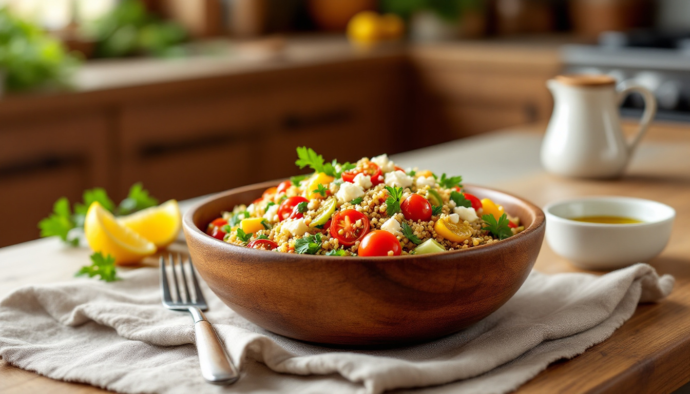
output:
<instances>
[{"instance_id":1,"label":"thick lower handle of the fork on the napkin","mask_svg":"<svg viewBox=\"0 0 690 394\"><path fill-rule=\"evenodd\" d=\"M201 375L206 382L213 384L231 384L239 378L239 373L233 360L221 344L213 326L208 320L200 320L194 324L194 333L197 337L197 352Z\"/></svg>"}]
</instances>

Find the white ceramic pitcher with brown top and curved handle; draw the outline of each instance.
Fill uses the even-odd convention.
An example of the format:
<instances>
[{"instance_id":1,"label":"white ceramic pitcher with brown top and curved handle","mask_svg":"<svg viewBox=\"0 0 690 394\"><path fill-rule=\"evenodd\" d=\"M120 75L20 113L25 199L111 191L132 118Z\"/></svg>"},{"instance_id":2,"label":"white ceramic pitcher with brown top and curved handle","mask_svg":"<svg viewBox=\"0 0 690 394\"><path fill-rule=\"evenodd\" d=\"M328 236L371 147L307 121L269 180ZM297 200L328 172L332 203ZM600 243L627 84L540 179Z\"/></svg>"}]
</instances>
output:
<instances>
[{"instance_id":1,"label":"white ceramic pitcher with brown top and curved handle","mask_svg":"<svg viewBox=\"0 0 690 394\"><path fill-rule=\"evenodd\" d=\"M653 93L631 81L615 86L607 75L559 75L546 86L554 107L542 142L544 168L569 177L622 175L656 113ZM631 92L644 97L644 113L637 134L627 139L618 107Z\"/></svg>"}]
</instances>

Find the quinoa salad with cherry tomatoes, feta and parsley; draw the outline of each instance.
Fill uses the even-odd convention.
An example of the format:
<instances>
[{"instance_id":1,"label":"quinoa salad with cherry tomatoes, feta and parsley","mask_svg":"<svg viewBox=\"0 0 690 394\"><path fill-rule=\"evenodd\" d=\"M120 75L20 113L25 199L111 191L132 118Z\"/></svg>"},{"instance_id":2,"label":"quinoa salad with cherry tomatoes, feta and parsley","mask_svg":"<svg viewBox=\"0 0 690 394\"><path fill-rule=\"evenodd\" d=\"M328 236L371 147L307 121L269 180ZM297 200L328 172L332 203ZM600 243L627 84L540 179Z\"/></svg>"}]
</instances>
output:
<instances>
[{"instance_id":1,"label":"quinoa salad with cherry tomatoes, feta and parsley","mask_svg":"<svg viewBox=\"0 0 690 394\"><path fill-rule=\"evenodd\" d=\"M400 168L380 155L324 161L297 148L299 175L208 224L224 242L284 253L397 256L500 242L524 227L491 199L462 188L462 177Z\"/></svg>"}]
</instances>

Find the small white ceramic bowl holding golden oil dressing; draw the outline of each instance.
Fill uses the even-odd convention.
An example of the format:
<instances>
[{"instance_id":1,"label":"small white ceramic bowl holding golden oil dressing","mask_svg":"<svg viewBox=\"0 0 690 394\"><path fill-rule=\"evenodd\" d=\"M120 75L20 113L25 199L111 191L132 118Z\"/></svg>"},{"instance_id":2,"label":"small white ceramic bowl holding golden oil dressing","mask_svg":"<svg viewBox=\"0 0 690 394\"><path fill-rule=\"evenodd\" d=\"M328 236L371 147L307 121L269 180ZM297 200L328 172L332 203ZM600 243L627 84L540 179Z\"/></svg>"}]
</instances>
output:
<instances>
[{"instance_id":1,"label":"small white ceramic bowl holding golden oil dressing","mask_svg":"<svg viewBox=\"0 0 690 394\"><path fill-rule=\"evenodd\" d=\"M611 270L648 262L664 250L676 210L666 204L632 197L583 197L549 204L546 241L558 255L587 270ZM584 216L638 219L635 224L575 221Z\"/></svg>"}]
</instances>

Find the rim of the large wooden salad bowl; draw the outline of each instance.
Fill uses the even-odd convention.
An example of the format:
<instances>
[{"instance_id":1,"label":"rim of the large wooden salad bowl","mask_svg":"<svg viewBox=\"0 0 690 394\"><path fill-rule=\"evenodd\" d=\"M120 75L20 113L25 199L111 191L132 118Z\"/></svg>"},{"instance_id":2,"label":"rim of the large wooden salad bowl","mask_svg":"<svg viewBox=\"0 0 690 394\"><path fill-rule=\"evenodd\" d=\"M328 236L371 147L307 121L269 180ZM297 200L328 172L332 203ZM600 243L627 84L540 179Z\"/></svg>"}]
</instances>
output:
<instances>
[{"instance_id":1,"label":"rim of the large wooden salad bowl","mask_svg":"<svg viewBox=\"0 0 690 394\"><path fill-rule=\"evenodd\" d=\"M245 191L250 191L250 190L255 190L257 188L267 188L270 186L275 186L276 184L279 184L281 181L285 181L288 178L285 179L275 179L273 181L265 181L265 182L260 182L257 184L250 184L247 186L240 186L238 188L232 188L225 190L223 192L215 193L213 195L208 196L207 198L203 199L202 201L197 202L197 204L194 204L194 206L190 207L187 212L184 214L182 217L182 226L185 231L185 237L191 237L191 236L196 236L196 237L204 237L201 239L205 239L208 237L208 239L214 239L213 237L210 237L206 235L203 231L201 231L200 228L198 228L194 224L194 215L199 210L199 208L202 208L203 206L206 206L207 204L212 203L213 201L216 201L217 199L224 198L228 195L233 195L237 193L243 193ZM424 259L426 257L434 257L438 255L448 255L449 253L452 254L457 254L457 253L464 253L464 255L470 256L470 255L475 255L477 253L485 253L484 249L486 247L493 247L493 248L508 248L510 246L516 245L519 242L522 242L522 239L525 239L526 237L529 237L532 233L535 231L539 230L540 228L543 228L544 224L546 223L546 215L542 208L539 206L536 206L535 204L532 204L530 201L527 201L526 199L523 199L522 197L518 197L516 195L512 195L511 193L506 193L503 190L498 190L494 188L487 188L485 186L479 186L479 185L474 185L474 184L464 184L464 186L469 186L470 188L480 188L484 190L490 190L492 192L497 192L497 193L502 193L504 195L507 195L508 197L512 197L514 199L517 199L517 201L520 201L520 203L524 204L526 208L531 210L531 212L534 214L534 220L532 224L530 224L529 227L525 228L522 230L522 232L517 233L516 235L513 235L512 237L506 238L506 239L501 239L500 243L498 244L484 244L484 245L479 245L479 246L473 246L472 248L464 249L464 250L451 250L451 251L444 251L444 252L436 252L436 253L425 253L424 255L400 255L400 256L359 256L357 255L357 261L359 262L365 262L365 261L371 261L371 262L394 262L397 261L398 259ZM189 235L188 235L189 234ZM215 242L217 242L217 239L214 239ZM235 251L237 252L242 252L242 253L249 253L250 255L255 255L255 257L260 258L262 256L265 256L264 253L280 253L280 252L273 252L272 250L261 250L261 249L251 249L251 248L245 248L243 246L238 246L235 244L230 244L228 242L217 242L219 248L226 248L227 251ZM215 245L215 244L214 244ZM257 255L258 253L258 255ZM301 260L303 261L304 259L313 259L313 260L322 260L322 259L327 259L329 262L331 261L348 261L348 259L351 259L352 256L325 256L325 255L308 255L308 254L297 254L297 253L281 253L282 257L284 259L295 259L296 260Z\"/></svg>"}]
</instances>

